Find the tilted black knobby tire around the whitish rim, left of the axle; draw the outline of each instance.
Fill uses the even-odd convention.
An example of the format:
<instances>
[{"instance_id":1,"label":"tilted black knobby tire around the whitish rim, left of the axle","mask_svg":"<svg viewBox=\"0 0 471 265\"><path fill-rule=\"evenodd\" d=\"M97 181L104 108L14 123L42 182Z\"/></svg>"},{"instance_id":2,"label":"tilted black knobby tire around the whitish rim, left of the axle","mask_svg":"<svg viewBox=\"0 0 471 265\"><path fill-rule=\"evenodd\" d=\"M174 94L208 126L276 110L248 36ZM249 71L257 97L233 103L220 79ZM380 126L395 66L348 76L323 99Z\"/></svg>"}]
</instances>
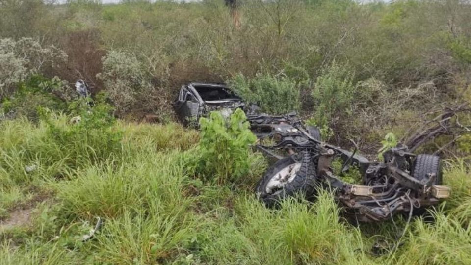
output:
<instances>
[{"instance_id":1,"label":"tilted black knobby tire around the whitish rim, left of the axle","mask_svg":"<svg viewBox=\"0 0 471 265\"><path fill-rule=\"evenodd\" d=\"M284 186L283 190L275 194L266 193L266 185L276 173L288 165L298 162L301 162L301 169L297 172L294 179ZM255 192L259 196L259 199L269 208L277 206L283 199L293 197L298 193L308 198L311 197L315 191L315 172L315 165L308 152L294 154L274 163L257 184Z\"/></svg>"}]
</instances>

